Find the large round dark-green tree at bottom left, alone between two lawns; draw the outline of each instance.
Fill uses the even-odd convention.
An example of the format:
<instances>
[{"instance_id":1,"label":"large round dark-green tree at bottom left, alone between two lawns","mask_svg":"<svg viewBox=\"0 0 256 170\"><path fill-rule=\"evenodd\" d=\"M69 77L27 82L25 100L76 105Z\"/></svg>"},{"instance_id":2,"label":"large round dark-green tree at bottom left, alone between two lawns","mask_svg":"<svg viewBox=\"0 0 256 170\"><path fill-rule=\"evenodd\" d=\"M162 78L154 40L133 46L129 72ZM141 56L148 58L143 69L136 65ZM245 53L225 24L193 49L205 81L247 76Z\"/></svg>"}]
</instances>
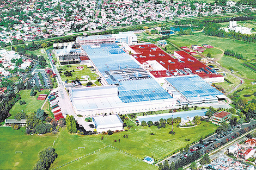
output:
<instances>
[{"instance_id":1,"label":"large round dark-green tree at bottom left, alone between two lawns","mask_svg":"<svg viewBox=\"0 0 256 170\"><path fill-rule=\"evenodd\" d=\"M34 170L49 169L51 163L57 158L58 154L55 149L48 147L39 152L39 160L35 164Z\"/></svg>"}]
</instances>

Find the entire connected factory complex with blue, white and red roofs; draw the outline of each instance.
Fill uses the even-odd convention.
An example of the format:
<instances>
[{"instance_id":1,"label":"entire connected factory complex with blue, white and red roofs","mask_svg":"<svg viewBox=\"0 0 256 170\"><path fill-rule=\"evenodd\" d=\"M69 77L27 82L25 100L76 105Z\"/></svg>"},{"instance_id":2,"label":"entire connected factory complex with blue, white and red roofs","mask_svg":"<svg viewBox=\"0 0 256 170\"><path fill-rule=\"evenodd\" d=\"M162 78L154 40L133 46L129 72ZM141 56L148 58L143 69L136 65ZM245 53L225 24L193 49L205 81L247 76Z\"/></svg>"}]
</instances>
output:
<instances>
[{"instance_id":1,"label":"entire connected factory complex with blue, white and red roofs","mask_svg":"<svg viewBox=\"0 0 256 170\"><path fill-rule=\"evenodd\" d=\"M127 46L128 39L137 42L133 35L77 38L80 51L86 54L103 85L70 88L70 100L77 114L130 114L167 110L176 105L216 103L225 98L209 84L224 81L221 74L184 51L169 55L151 43Z\"/></svg>"}]
</instances>

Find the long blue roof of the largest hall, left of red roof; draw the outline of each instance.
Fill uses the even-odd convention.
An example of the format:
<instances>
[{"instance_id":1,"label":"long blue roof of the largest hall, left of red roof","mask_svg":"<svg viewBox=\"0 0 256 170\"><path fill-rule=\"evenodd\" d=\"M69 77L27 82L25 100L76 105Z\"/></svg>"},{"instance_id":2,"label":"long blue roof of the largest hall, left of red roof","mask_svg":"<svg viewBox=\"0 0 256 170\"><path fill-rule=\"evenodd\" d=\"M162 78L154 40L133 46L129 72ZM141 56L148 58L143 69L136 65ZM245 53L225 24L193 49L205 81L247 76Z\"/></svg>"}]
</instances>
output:
<instances>
[{"instance_id":1,"label":"long blue roof of the largest hall, left of red roof","mask_svg":"<svg viewBox=\"0 0 256 170\"><path fill-rule=\"evenodd\" d=\"M172 98L116 43L82 46L109 85L117 85L123 103Z\"/></svg>"}]
</instances>

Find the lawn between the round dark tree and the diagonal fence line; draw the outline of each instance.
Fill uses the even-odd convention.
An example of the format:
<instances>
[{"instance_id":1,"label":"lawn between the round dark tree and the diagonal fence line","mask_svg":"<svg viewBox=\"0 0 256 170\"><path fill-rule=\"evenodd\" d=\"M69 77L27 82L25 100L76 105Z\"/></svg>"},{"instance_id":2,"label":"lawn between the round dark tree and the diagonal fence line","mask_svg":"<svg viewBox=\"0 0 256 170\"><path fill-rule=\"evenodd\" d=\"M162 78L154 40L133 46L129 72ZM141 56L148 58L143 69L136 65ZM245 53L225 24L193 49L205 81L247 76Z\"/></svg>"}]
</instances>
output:
<instances>
[{"instance_id":1,"label":"lawn between the round dark tree and the diagonal fence line","mask_svg":"<svg viewBox=\"0 0 256 170\"><path fill-rule=\"evenodd\" d=\"M81 136L69 134L68 130L63 128L53 146L56 149L56 153L58 153L58 158L54 161L51 169L105 146L107 144L101 141L101 135ZM78 147L85 147L85 149L78 149Z\"/></svg>"}]
</instances>

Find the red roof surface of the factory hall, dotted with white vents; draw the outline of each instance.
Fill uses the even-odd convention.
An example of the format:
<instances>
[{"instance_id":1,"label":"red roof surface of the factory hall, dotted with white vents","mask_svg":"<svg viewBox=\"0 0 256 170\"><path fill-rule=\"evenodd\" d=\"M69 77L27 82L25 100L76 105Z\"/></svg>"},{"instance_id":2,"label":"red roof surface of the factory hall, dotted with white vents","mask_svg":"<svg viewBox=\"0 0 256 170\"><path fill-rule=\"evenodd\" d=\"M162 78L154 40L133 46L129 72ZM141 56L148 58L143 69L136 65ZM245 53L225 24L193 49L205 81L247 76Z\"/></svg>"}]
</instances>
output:
<instances>
[{"instance_id":1,"label":"red roof surface of the factory hall, dotted with white vents","mask_svg":"<svg viewBox=\"0 0 256 170\"><path fill-rule=\"evenodd\" d=\"M222 77L221 74L209 72L208 70L212 70L210 67L206 66L185 51L176 51L175 53L180 55L181 58L175 59L154 44L136 45L130 47L137 53L133 54L133 57L135 57L136 60L141 64L149 60L156 60L164 68L166 68L167 71L170 71L169 75L166 74L167 71L150 71L150 73L153 74L156 78L173 76L174 72L176 72L176 69L183 70L184 68L190 68L193 74L197 74L201 78ZM160 61L162 61L162 63ZM199 68L204 68L204 70L206 70L208 73L200 71Z\"/></svg>"}]
</instances>

